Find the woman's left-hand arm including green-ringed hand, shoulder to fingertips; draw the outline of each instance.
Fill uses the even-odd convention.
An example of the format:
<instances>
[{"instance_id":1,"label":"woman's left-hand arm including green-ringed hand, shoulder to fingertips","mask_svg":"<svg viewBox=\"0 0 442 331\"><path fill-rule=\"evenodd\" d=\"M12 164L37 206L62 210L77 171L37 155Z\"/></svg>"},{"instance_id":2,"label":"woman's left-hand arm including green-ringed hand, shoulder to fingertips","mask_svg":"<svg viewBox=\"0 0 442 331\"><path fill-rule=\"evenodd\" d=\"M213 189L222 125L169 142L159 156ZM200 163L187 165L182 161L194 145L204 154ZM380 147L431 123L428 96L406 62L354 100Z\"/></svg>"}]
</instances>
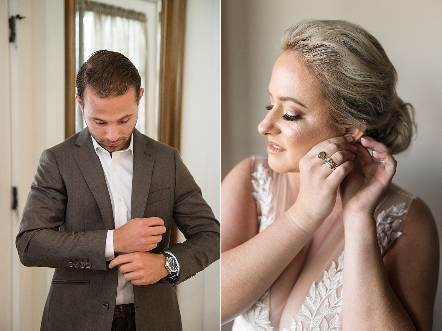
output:
<instances>
[{"instance_id":1,"label":"woman's left-hand arm including green-ringed hand, shoulder to fingertips","mask_svg":"<svg viewBox=\"0 0 442 331\"><path fill-rule=\"evenodd\" d=\"M348 142L345 137L332 138L301 159L297 201L259 234L249 184L250 160L226 176L221 191L222 323L245 312L262 296L331 213L339 183L352 167L354 156L349 151L354 148ZM339 158L334 172L317 158L322 150Z\"/></svg>"}]
</instances>

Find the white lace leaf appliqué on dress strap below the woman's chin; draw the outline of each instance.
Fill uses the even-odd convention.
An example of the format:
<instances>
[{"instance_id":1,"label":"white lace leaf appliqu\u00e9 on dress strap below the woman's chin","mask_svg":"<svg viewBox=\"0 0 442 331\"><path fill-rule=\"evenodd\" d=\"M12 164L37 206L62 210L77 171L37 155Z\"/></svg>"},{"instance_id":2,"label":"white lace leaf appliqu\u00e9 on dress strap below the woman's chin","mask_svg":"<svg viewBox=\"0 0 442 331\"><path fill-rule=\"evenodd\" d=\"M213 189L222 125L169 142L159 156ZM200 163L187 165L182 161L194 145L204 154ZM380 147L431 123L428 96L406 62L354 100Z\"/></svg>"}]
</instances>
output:
<instances>
[{"instance_id":1,"label":"white lace leaf appliqu\u00e9 on dress strap below the woman's chin","mask_svg":"<svg viewBox=\"0 0 442 331\"><path fill-rule=\"evenodd\" d=\"M269 175L269 169L266 169L262 163L258 165L257 171L251 175L256 179L251 180L253 188L255 189L255 192L251 194L253 198L255 198L259 232L261 232L275 220L274 213L270 216L267 215L272 208L272 177Z\"/></svg>"}]
</instances>

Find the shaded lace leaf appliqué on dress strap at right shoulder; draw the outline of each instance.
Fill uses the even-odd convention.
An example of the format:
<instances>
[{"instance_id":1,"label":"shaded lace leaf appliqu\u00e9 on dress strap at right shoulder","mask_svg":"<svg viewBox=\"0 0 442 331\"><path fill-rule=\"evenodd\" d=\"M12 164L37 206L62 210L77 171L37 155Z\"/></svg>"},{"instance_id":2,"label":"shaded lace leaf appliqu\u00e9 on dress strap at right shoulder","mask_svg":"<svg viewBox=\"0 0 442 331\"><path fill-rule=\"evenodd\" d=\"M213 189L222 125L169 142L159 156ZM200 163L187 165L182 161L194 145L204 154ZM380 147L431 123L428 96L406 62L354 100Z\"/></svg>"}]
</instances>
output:
<instances>
[{"instance_id":1,"label":"shaded lace leaf appliqu\u00e9 on dress strap at right shoulder","mask_svg":"<svg viewBox=\"0 0 442 331\"><path fill-rule=\"evenodd\" d=\"M379 248L381 248L381 255L384 256L388 247L402 234L402 232L395 232L399 228L402 220L396 218L407 213L405 209L406 203L403 202L400 205L395 205L387 210L382 210L379 215L377 215L376 222L376 232L377 232L377 242L379 243Z\"/></svg>"}]
</instances>

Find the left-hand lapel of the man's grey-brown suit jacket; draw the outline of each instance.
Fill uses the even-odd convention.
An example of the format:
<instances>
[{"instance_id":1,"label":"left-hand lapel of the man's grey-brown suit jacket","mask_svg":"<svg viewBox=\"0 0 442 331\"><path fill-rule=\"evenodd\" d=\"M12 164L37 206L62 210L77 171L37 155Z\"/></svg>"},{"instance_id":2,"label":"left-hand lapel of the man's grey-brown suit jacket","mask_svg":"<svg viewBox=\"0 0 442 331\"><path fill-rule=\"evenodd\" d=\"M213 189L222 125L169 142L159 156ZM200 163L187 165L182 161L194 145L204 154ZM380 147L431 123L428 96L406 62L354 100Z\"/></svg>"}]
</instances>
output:
<instances>
[{"instance_id":1,"label":"left-hand lapel of the man's grey-brown suit jacket","mask_svg":"<svg viewBox=\"0 0 442 331\"><path fill-rule=\"evenodd\" d=\"M72 154L98 204L104 226L107 230L112 230L115 225L109 191L107 190L103 167L97 153L94 151L91 135L87 128L79 134L75 144L80 147L72 150Z\"/></svg>"}]
</instances>

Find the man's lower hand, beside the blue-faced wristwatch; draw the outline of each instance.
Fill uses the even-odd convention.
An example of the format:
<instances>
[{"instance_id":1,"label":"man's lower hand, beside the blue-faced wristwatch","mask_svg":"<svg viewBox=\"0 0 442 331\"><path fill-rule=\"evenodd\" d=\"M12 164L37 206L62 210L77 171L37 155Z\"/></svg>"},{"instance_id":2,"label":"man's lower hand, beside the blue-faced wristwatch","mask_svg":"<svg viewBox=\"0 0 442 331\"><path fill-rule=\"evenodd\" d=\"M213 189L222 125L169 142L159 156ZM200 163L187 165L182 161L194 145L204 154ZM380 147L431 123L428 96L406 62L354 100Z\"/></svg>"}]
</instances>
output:
<instances>
[{"instance_id":1,"label":"man's lower hand, beside the blue-faced wristwatch","mask_svg":"<svg viewBox=\"0 0 442 331\"><path fill-rule=\"evenodd\" d=\"M163 254L136 252L118 255L110 261L109 268L120 265L120 272L124 274L126 281L133 285L148 285L169 274L165 264L166 257Z\"/></svg>"}]
</instances>

